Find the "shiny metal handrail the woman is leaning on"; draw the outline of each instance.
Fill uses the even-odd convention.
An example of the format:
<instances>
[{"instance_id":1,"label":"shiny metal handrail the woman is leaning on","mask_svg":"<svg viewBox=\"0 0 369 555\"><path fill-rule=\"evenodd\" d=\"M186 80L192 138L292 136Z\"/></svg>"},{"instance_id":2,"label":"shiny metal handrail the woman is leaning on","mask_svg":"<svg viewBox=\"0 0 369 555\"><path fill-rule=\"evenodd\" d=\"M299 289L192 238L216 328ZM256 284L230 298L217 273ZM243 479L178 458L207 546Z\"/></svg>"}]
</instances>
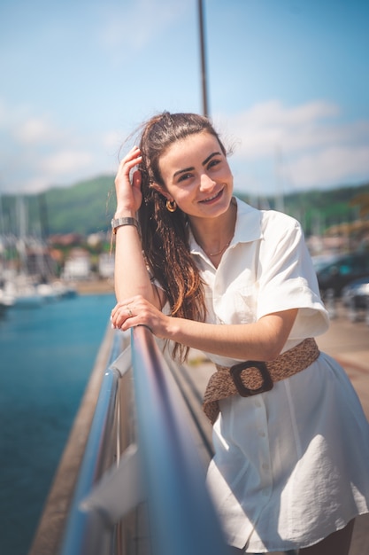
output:
<instances>
[{"instance_id":1,"label":"shiny metal handrail the woman is leaning on","mask_svg":"<svg viewBox=\"0 0 369 555\"><path fill-rule=\"evenodd\" d=\"M117 341L114 345L116 355ZM139 464L133 464L131 458L127 466L131 473L135 466L143 484L150 517L151 553L225 555L227 546L205 487L204 465L189 433L185 403L148 328L137 326L132 330L131 350L139 454L135 460ZM113 368L104 376L60 555L120 555L115 538L118 522L114 523L111 515L117 519L126 511L119 512L117 503L121 499L122 505L127 504L125 497L131 494L124 484L130 481L129 477L122 481L116 465L115 473L104 473L109 458L105 451L112 453L116 449L113 443L117 438L114 440L112 435L119 428L119 377L119 371ZM114 434L111 430L115 430ZM111 465L114 466L112 461ZM109 480L110 489L104 490L104 483ZM97 481L100 483L96 485ZM138 483L136 476L133 482ZM98 492L95 497L94 491Z\"/></svg>"}]
</instances>

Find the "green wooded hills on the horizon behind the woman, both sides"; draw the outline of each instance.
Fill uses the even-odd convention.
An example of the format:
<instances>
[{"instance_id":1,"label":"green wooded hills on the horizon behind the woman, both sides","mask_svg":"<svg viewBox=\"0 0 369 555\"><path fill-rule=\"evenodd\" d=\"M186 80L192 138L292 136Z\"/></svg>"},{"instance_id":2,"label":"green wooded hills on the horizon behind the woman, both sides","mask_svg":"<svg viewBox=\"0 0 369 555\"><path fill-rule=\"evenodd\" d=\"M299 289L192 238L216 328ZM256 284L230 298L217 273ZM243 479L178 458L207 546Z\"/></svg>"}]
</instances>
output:
<instances>
[{"instance_id":1,"label":"green wooded hills on the horizon behind the woman, both sides","mask_svg":"<svg viewBox=\"0 0 369 555\"><path fill-rule=\"evenodd\" d=\"M323 232L327 227L357 219L358 207L350 201L358 194L369 195L369 183L331 190L294 192L284 197L284 212L303 224L305 234ZM237 192L236 192L237 194ZM276 207L275 199L262 199L262 203L247 194L239 194L251 205ZM24 197L28 218L26 232L35 235L81 233L88 235L110 229L115 209L114 176L99 176L70 187L50 189L42 194ZM17 197L1 197L3 230L19 235ZM0 205L1 208L1 205Z\"/></svg>"}]
</instances>

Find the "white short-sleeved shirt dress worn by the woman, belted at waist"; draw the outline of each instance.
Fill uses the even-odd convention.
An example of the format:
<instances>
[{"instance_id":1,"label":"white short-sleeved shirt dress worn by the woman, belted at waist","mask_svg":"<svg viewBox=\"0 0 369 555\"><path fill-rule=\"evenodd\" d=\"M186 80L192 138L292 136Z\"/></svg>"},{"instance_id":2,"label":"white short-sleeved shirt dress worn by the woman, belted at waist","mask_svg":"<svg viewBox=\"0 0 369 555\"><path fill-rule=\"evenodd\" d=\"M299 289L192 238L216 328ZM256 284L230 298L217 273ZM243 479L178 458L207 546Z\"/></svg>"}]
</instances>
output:
<instances>
[{"instance_id":1,"label":"white short-sleeved shirt dress worn by the woman, belted at waist","mask_svg":"<svg viewBox=\"0 0 369 555\"><path fill-rule=\"evenodd\" d=\"M234 238L216 269L195 239L207 321L247 324L298 309L283 350L327 330L301 226L239 199ZM208 354L222 366L240 362ZM220 401L207 483L227 541L250 553L318 543L369 505L369 426L341 366L320 353L271 391Z\"/></svg>"}]
</instances>

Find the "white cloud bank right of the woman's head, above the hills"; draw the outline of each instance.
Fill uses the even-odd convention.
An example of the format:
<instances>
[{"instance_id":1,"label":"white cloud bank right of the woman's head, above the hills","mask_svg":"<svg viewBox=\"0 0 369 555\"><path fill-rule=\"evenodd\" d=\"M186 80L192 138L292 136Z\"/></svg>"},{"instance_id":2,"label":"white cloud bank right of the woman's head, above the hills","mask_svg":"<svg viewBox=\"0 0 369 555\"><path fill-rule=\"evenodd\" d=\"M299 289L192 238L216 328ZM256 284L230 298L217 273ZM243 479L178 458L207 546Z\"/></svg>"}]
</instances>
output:
<instances>
[{"instance_id":1,"label":"white cloud bank right of the woman's head, above the hills","mask_svg":"<svg viewBox=\"0 0 369 555\"><path fill-rule=\"evenodd\" d=\"M269 185L277 170L286 188L369 179L369 121L342 121L334 104L316 101L288 107L270 101L228 118L219 116L217 127L231 130L236 143L233 160L242 175L247 173L242 164L264 164ZM285 167L275 168L277 163Z\"/></svg>"}]
</instances>

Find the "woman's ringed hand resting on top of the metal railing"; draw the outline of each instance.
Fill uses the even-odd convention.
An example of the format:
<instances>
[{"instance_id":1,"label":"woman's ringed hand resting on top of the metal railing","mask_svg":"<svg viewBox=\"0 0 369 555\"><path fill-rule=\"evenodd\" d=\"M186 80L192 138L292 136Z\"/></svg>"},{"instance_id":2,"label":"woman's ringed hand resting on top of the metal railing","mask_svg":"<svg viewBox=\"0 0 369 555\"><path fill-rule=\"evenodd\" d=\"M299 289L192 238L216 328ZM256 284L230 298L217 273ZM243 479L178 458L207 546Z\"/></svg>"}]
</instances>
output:
<instances>
[{"instance_id":1,"label":"woman's ringed hand resting on top of the metal railing","mask_svg":"<svg viewBox=\"0 0 369 555\"><path fill-rule=\"evenodd\" d=\"M135 325L146 325L158 338L167 337L170 317L165 316L142 295L118 302L111 310L111 326L125 332Z\"/></svg>"}]
</instances>

